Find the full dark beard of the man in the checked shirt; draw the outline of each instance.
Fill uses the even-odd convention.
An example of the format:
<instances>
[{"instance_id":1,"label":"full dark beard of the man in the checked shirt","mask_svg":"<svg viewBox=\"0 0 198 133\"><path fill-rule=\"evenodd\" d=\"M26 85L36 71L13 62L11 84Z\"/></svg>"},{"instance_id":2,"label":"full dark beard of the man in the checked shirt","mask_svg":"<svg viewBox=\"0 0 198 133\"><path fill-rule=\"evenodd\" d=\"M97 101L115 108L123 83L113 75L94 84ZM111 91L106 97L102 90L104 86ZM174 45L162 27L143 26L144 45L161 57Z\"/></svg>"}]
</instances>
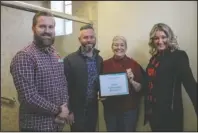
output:
<instances>
[{"instance_id":1,"label":"full dark beard of the man in the checked shirt","mask_svg":"<svg viewBox=\"0 0 198 133\"><path fill-rule=\"evenodd\" d=\"M48 36L49 38L44 38L44 36ZM34 40L39 47L46 48L52 46L55 39L52 35L45 33L42 35L34 34Z\"/></svg>"}]
</instances>

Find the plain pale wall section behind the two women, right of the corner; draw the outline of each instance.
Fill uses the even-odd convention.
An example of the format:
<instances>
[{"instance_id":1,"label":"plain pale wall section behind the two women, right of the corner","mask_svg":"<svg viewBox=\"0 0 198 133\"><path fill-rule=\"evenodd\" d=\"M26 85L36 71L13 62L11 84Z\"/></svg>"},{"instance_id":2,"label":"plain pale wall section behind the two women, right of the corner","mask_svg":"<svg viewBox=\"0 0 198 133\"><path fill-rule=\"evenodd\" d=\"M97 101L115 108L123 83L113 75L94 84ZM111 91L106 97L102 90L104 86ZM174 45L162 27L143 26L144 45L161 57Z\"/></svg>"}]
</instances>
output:
<instances>
[{"instance_id":1,"label":"plain pale wall section behind the two women, right of the corner","mask_svg":"<svg viewBox=\"0 0 198 133\"><path fill-rule=\"evenodd\" d=\"M128 40L127 54L136 59L144 68L150 55L148 37L155 23L163 22L174 30L181 49L190 59L190 66L197 79L197 2L171 1L106 1L98 2L98 48L104 59L112 56L111 41L115 35ZM197 119L192 104L183 90L184 130L196 131ZM143 102L138 121L138 131L150 130L143 126ZM100 121L102 124L103 121ZM102 129L105 130L105 129Z\"/></svg>"}]
</instances>

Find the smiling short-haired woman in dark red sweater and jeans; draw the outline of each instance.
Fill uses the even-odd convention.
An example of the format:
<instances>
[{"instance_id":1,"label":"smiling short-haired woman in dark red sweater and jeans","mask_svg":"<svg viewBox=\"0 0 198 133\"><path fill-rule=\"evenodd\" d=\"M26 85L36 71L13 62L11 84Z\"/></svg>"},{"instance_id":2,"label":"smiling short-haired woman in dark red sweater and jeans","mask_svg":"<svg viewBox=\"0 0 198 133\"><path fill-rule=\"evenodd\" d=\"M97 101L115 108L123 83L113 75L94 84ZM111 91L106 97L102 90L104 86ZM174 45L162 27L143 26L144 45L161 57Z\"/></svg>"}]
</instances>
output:
<instances>
[{"instance_id":1,"label":"smiling short-haired woman in dark red sweater and jeans","mask_svg":"<svg viewBox=\"0 0 198 133\"><path fill-rule=\"evenodd\" d=\"M103 73L127 73L129 94L106 97L102 101L104 119L107 131L132 132L136 129L143 69L135 60L126 56L127 41L123 36L115 36L111 48L114 55L104 61Z\"/></svg>"}]
</instances>

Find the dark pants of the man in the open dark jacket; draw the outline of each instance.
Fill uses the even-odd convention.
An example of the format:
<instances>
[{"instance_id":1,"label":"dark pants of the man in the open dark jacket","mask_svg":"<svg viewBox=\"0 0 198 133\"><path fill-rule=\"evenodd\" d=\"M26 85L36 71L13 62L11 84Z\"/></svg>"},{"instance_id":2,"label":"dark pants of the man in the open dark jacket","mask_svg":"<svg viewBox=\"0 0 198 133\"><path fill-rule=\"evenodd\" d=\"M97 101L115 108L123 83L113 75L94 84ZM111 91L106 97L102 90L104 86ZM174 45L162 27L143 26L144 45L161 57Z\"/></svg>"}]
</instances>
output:
<instances>
[{"instance_id":1,"label":"dark pants of the man in the open dark jacket","mask_svg":"<svg viewBox=\"0 0 198 133\"><path fill-rule=\"evenodd\" d=\"M98 102L90 103L83 111L74 112L72 132L95 132L98 119Z\"/></svg>"}]
</instances>

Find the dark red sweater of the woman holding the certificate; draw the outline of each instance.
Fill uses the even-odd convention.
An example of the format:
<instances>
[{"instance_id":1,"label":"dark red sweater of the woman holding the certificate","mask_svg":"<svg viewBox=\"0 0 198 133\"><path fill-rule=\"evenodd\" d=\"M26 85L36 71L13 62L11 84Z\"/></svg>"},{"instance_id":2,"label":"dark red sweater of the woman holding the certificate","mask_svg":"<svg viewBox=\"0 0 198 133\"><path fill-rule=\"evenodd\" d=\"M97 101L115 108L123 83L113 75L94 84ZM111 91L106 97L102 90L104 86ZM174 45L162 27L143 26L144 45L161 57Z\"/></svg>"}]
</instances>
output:
<instances>
[{"instance_id":1,"label":"dark red sweater of the woman holding the certificate","mask_svg":"<svg viewBox=\"0 0 198 133\"><path fill-rule=\"evenodd\" d=\"M105 60L103 63L104 74L126 72L126 69L128 68L132 69L134 80L142 83L142 68L133 59L125 56L123 59L117 60L112 57L108 60ZM128 85L130 93L129 95L107 97L107 99L103 101L104 108L112 111L128 111L130 109L137 108L140 101L141 91L136 92L129 82Z\"/></svg>"}]
</instances>

